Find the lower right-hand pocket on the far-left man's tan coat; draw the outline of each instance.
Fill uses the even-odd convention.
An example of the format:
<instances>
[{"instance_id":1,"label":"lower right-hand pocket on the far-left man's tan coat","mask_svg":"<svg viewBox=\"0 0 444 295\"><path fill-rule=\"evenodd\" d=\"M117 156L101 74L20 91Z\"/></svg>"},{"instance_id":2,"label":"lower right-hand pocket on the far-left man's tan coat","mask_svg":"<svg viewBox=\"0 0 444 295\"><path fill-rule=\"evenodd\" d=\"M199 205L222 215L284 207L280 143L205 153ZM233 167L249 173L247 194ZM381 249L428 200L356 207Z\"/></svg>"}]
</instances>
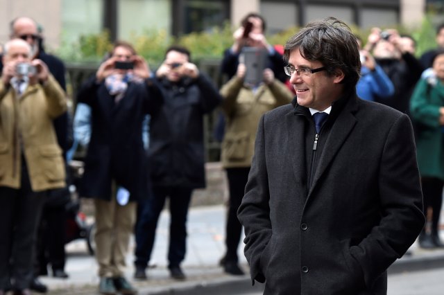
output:
<instances>
[{"instance_id":1,"label":"lower right-hand pocket on the far-left man's tan coat","mask_svg":"<svg viewBox=\"0 0 444 295\"><path fill-rule=\"evenodd\" d=\"M62 150L57 145L43 145L39 147L41 169L48 181L65 180L65 163Z\"/></svg>"}]
</instances>

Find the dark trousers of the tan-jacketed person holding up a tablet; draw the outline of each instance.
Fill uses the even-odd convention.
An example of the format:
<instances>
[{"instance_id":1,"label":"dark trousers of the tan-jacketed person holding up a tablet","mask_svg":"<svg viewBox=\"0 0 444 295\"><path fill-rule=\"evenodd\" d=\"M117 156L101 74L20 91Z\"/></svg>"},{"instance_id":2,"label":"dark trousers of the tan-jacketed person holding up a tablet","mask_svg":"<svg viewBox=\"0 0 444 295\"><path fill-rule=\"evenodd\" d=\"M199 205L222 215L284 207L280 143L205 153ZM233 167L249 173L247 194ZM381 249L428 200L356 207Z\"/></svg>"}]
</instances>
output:
<instances>
[{"instance_id":1,"label":"dark trousers of the tan-jacketed person holding up a tablet","mask_svg":"<svg viewBox=\"0 0 444 295\"><path fill-rule=\"evenodd\" d=\"M237 247L239 246L242 233L242 224L237 219L237 209L239 209L242 198L244 197L250 168L227 168L226 171L230 190L230 201L228 204L225 228L225 245L227 247L225 261L237 262Z\"/></svg>"}]
</instances>

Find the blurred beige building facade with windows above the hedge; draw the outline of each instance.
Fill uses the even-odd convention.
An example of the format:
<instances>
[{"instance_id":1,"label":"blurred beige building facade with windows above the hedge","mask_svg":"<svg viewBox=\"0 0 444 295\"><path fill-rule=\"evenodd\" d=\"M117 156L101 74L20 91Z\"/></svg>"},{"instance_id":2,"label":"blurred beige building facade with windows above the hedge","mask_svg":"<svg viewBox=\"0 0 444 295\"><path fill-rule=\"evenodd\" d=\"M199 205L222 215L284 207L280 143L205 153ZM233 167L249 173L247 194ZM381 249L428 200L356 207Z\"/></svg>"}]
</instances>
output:
<instances>
[{"instance_id":1,"label":"blurred beige building facade with windows above the hedge","mask_svg":"<svg viewBox=\"0 0 444 295\"><path fill-rule=\"evenodd\" d=\"M334 16L361 28L420 24L436 0L0 0L0 42L9 36L11 19L26 15L44 29L46 44L76 42L80 35L104 28L112 39L130 39L146 30L171 35L208 30L225 21L237 25L246 13L259 12L268 33ZM441 1L442 2L442 1Z\"/></svg>"}]
</instances>

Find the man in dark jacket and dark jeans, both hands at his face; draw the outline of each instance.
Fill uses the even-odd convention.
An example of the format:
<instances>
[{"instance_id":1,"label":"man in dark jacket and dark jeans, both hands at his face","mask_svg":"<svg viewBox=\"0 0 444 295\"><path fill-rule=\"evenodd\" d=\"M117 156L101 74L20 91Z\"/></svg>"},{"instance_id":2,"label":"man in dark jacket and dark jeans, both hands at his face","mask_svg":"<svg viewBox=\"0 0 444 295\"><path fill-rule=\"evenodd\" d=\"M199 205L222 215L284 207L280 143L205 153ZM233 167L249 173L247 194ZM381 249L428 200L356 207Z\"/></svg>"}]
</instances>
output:
<instances>
[{"instance_id":1,"label":"man in dark jacket and dark jeans, both hands at his face","mask_svg":"<svg viewBox=\"0 0 444 295\"><path fill-rule=\"evenodd\" d=\"M149 109L148 170L153 191L137 222L135 278L146 278L157 220L169 197L168 267L173 278L184 279L180 263L185 258L191 193L194 188L205 187L203 116L219 105L221 96L190 62L189 51L180 46L167 49L155 75L162 95L153 98Z\"/></svg>"}]
</instances>

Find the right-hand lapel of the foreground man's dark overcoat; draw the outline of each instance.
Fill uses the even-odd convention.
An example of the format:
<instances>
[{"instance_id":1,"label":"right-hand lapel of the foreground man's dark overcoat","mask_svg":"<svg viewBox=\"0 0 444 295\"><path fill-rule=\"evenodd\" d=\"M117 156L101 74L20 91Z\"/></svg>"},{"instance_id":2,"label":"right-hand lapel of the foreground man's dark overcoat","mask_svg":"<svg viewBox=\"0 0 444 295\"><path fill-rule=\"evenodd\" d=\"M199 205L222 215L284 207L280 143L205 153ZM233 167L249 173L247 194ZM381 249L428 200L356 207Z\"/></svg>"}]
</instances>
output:
<instances>
[{"instance_id":1,"label":"right-hand lapel of the foreground man's dark overcoat","mask_svg":"<svg viewBox=\"0 0 444 295\"><path fill-rule=\"evenodd\" d=\"M320 155L321 158L318 161L318 167L313 178L313 184L309 190L308 197L313 192L318 180L322 177L327 167L330 165L336 154L341 149L341 146L350 135L350 132L355 127L357 119L353 114L357 108L357 98L351 97L348 103L345 104L341 113L334 120L330 134L328 135L325 147Z\"/></svg>"}]
</instances>

